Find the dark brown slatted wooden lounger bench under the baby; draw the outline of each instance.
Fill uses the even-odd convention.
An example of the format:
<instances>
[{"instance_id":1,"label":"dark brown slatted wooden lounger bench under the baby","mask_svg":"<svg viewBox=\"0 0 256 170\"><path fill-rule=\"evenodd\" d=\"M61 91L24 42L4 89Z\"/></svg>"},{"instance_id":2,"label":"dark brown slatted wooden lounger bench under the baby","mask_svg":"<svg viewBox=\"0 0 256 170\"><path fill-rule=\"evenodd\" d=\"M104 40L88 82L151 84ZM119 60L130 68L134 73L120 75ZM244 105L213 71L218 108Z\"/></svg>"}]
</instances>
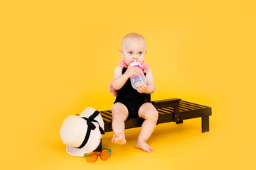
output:
<instances>
[{"instance_id":1,"label":"dark brown slatted wooden lounger bench under the baby","mask_svg":"<svg viewBox=\"0 0 256 170\"><path fill-rule=\"evenodd\" d=\"M150 95L147 98L150 101ZM202 119L202 132L209 132L209 116L212 115L211 108L188 101L181 101L179 98L171 98L161 101L151 101L159 112L159 123L176 122L183 123L183 120L191 118ZM105 123L105 132L112 131L112 112L100 111ZM125 129L141 127L144 119L134 118L125 120Z\"/></svg>"}]
</instances>

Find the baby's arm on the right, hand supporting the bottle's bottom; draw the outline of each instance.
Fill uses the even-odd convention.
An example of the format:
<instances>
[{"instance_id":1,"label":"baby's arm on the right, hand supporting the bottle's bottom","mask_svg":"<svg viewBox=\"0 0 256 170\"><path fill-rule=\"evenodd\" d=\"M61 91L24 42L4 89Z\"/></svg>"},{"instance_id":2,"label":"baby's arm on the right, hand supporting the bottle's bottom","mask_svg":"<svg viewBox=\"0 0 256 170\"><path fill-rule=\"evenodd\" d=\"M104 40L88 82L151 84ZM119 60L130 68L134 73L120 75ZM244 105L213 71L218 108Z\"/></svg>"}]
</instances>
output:
<instances>
[{"instance_id":1,"label":"baby's arm on the right, hand supporting the bottle's bottom","mask_svg":"<svg viewBox=\"0 0 256 170\"><path fill-rule=\"evenodd\" d=\"M152 94L156 89L156 86L154 84L153 74L150 68L146 73L146 83L146 86L139 86L139 93Z\"/></svg>"}]
</instances>

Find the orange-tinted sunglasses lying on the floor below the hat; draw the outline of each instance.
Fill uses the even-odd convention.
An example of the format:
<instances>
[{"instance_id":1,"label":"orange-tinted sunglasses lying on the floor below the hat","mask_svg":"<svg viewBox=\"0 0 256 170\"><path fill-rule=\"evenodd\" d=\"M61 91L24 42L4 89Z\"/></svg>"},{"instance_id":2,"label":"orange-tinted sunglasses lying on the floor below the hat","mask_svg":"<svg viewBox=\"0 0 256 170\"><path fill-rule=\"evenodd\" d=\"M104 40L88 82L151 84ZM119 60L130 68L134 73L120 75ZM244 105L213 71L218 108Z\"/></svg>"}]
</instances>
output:
<instances>
[{"instance_id":1,"label":"orange-tinted sunglasses lying on the floor below the hat","mask_svg":"<svg viewBox=\"0 0 256 170\"><path fill-rule=\"evenodd\" d=\"M85 154L85 159L87 162L93 163L93 162L97 161L97 157L100 156L100 158L103 161L107 161L107 159L110 158L110 155L111 155L111 149L103 148L103 149L101 149L100 152L90 152L90 153Z\"/></svg>"}]
</instances>

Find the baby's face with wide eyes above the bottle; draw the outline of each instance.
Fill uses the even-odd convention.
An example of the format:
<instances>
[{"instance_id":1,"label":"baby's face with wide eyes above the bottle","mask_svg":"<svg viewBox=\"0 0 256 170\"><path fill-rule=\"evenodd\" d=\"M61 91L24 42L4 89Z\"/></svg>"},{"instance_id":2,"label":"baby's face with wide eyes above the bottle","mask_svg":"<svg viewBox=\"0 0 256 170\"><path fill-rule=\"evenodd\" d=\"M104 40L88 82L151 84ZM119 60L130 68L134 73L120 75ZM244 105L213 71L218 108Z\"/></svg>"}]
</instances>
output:
<instances>
[{"instance_id":1,"label":"baby's face with wide eyes above the bottle","mask_svg":"<svg viewBox=\"0 0 256 170\"><path fill-rule=\"evenodd\" d=\"M122 57L127 65L137 60L142 64L146 54L146 42L143 39L127 38L124 40L123 49L120 50Z\"/></svg>"}]
</instances>

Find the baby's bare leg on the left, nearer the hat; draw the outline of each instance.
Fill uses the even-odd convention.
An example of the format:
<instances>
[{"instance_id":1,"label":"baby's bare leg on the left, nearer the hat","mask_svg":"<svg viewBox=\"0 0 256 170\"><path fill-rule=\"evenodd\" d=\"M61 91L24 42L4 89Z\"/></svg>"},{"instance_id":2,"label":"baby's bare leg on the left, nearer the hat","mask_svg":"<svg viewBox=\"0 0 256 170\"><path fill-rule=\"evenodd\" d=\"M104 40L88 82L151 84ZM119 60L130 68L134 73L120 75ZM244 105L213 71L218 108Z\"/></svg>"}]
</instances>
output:
<instances>
[{"instance_id":1,"label":"baby's bare leg on the left, nearer the hat","mask_svg":"<svg viewBox=\"0 0 256 170\"><path fill-rule=\"evenodd\" d=\"M126 143L124 136L124 120L128 117L128 109L122 103L115 103L112 108L112 129L114 135L112 137L112 142L119 145L124 145Z\"/></svg>"}]
</instances>

